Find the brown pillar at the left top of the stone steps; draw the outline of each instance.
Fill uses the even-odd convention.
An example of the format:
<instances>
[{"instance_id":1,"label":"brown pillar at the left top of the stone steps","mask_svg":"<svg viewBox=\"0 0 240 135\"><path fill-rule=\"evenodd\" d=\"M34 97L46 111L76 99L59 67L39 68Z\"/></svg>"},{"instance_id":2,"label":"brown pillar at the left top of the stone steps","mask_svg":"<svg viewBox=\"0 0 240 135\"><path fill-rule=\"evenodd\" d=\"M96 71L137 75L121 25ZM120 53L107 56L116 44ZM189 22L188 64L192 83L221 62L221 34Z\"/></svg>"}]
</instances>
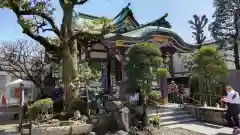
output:
<instances>
[{"instance_id":1,"label":"brown pillar at the left top of the stone steps","mask_svg":"<svg viewBox=\"0 0 240 135\"><path fill-rule=\"evenodd\" d=\"M160 90L164 104L168 104L168 84L167 76L162 76L160 78Z\"/></svg>"}]
</instances>

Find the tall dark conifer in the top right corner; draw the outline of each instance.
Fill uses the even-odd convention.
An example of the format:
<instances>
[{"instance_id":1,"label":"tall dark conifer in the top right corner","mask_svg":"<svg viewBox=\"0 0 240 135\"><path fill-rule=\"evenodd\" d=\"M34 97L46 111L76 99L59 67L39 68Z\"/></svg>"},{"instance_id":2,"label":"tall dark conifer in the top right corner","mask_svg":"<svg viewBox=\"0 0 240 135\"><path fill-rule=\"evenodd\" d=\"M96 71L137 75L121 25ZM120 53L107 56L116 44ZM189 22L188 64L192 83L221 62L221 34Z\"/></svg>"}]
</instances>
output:
<instances>
[{"instance_id":1,"label":"tall dark conifer in the top right corner","mask_svg":"<svg viewBox=\"0 0 240 135\"><path fill-rule=\"evenodd\" d=\"M236 10L240 7L239 0L214 0L213 6L215 12L213 14L214 21L209 25L212 37L216 41L234 41L231 48L234 50L234 63L236 69L240 69L239 53L238 53L238 29L236 25ZM225 44L222 44L225 47Z\"/></svg>"}]
</instances>

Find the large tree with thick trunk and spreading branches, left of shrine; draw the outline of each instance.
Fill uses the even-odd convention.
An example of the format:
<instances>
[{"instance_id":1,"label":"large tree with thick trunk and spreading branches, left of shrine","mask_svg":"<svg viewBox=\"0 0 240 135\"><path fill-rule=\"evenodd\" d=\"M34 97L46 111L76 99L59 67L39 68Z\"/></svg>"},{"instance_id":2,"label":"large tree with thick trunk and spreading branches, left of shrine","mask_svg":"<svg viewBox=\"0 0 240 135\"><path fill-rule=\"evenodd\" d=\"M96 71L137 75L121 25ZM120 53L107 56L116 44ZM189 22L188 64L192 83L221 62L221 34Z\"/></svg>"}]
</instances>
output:
<instances>
[{"instance_id":1,"label":"large tree with thick trunk and spreading branches, left of shrine","mask_svg":"<svg viewBox=\"0 0 240 135\"><path fill-rule=\"evenodd\" d=\"M92 24L89 28L78 30L73 29L73 12L74 7L83 5L88 0L58 0L63 17L61 26L58 27L54 21L55 8L52 6L53 0L1 0L0 7L10 9L17 17L18 23L21 26L23 33L44 46L47 52L56 53L62 59L63 66L63 83L65 87L65 99L67 102L66 108L70 107L70 101L73 96L74 82L77 79L77 64L78 64L78 46L81 42L76 42L76 39L92 39L95 36L102 39L105 28L108 23L106 19ZM95 29L95 30L90 30ZM104 29L103 29L104 28ZM55 34L57 43L51 42L49 38L44 37L42 33L52 32Z\"/></svg>"}]
</instances>

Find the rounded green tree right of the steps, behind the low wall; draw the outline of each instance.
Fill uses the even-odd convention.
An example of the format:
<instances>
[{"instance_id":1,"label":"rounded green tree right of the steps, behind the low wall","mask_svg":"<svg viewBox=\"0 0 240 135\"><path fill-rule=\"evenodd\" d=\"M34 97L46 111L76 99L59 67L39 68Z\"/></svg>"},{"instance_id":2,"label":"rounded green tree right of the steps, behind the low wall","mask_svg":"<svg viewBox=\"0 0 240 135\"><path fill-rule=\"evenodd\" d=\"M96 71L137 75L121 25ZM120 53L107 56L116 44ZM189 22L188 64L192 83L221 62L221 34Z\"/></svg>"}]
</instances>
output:
<instances>
[{"instance_id":1,"label":"rounded green tree right of the steps, behind the low wall","mask_svg":"<svg viewBox=\"0 0 240 135\"><path fill-rule=\"evenodd\" d=\"M211 86L218 85L226 79L228 68L214 46L203 46L189 60L189 70L193 78L203 80L205 92Z\"/></svg>"}]
</instances>

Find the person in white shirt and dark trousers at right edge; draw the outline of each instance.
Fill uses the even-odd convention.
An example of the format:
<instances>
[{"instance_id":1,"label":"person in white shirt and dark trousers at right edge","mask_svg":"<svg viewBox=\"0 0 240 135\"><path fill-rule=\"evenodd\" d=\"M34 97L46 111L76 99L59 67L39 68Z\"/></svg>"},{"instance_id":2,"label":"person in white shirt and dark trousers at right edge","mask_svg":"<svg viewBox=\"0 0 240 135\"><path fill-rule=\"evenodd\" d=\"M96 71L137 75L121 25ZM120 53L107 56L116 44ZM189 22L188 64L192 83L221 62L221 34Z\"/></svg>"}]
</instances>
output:
<instances>
[{"instance_id":1,"label":"person in white shirt and dark trousers at right edge","mask_svg":"<svg viewBox=\"0 0 240 135\"><path fill-rule=\"evenodd\" d=\"M237 91L231 86L226 87L227 96L221 101L227 104L227 121L231 127L234 127L233 134L240 133L238 114L240 113L240 97Z\"/></svg>"}]
</instances>

